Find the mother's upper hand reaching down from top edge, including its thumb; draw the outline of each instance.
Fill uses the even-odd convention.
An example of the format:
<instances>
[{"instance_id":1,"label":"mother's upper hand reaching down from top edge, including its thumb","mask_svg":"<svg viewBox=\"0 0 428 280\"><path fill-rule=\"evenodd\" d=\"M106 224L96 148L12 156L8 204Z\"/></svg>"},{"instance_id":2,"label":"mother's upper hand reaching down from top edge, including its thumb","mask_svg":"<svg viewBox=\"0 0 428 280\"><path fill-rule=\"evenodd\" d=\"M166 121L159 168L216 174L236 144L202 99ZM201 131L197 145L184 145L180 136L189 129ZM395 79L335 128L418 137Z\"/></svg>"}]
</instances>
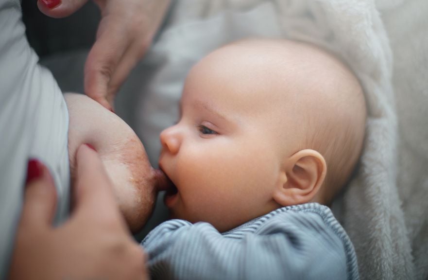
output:
<instances>
[{"instance_id":1,"label":"mother's upper hand reaching down from top edge, including its thumb","mask_svg":"<svg viewBox=\"0 0 428 280\"><path fill-rule=\"evenodd\" d=\"M44 14L63 18L87 0L38 0ZM150 47L171 0L94 0L102 19L86 59L85 92L107 109L120 85Z\"/></svg>"}]
</instances>

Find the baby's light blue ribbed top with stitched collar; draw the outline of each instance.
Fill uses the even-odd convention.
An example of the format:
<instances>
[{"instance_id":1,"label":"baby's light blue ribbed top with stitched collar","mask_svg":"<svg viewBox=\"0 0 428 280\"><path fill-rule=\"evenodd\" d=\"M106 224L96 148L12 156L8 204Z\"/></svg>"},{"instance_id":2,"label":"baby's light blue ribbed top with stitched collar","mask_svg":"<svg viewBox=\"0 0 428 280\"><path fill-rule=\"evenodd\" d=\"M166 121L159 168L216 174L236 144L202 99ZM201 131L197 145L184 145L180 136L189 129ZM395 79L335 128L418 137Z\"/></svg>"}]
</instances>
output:
<instances>
[{"instance_id":1,"label":"baby's light blue ribbed top with stitched collar","mask_svg":"<svg viewBox=\"0 0 428 280\"><path fill-rule=\"evenodd\" d=\"M359 279L352 243L317 203L280 208L225 233L170 220L141 245L152 279Z\"/></svg>"}]
</instances>

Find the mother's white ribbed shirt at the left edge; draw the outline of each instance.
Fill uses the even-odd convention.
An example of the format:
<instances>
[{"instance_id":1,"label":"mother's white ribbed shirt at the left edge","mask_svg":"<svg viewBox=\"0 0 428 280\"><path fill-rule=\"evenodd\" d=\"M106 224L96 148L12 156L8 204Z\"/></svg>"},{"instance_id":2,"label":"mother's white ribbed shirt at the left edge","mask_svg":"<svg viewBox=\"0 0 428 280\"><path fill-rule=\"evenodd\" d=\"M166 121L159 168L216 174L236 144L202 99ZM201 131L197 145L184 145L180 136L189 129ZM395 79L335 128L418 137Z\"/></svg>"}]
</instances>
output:
<instances>
[{"instance_id":1,"label":"mother's white ribbed shirt at the left edge","mask_svg":"<svg viewBox=\"0 0 428 280\"><path fill-rule=\"evenodd\" d=\"M25 38L19 0L0 0L0 279L8 272L29 158L55 181L55 221L68 214L68 110Z\"/></svg>"}]
</instances>

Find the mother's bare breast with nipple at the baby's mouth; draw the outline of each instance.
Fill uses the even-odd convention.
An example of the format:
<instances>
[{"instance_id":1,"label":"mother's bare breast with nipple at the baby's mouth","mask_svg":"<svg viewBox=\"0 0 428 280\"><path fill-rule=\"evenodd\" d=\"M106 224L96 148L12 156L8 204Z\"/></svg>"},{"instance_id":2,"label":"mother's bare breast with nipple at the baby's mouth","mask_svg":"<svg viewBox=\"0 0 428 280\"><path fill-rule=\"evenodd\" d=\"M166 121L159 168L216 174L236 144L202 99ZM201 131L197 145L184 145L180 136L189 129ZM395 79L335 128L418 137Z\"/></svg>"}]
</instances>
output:
<instances>
[{"instance_id":1,"label":"mother's bare breast with nipple at the baby's mouth","mask_svg":"<svg viewBox=\"0 0 428 280\"><path fill-rule=\"evenodd\" d=\"M149 163L141 141L116 114L82 94L65 94L68 106L68 155L72 181L76 151L84 143L98 152L113 183L116 199L131 231L137 232L154 208L165 175Z\"/></svg>"}]
</instances>

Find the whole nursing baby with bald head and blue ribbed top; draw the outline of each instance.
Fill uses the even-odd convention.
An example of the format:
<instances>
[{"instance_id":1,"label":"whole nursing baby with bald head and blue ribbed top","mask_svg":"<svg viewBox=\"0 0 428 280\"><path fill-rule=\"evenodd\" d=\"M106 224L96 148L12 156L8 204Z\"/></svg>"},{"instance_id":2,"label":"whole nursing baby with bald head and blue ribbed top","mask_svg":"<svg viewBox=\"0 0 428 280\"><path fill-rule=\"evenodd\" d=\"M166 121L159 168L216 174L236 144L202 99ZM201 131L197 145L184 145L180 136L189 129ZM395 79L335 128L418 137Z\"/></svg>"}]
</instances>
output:
<instances>
[{"instance_id":1,"label":"whole nursing baby with bald head and blue ribbed top","mask_svg":"<svg viewBox=\"0 0 428 280\"><path fill-rule=\"evenodd\" d=\"M188 74L160 135L171 217L143 240L154 279L358 279L329 205L363 145L353 73L314 46L244 40ZM206 223L198 223L206 222Z\"/></svg>"}]
</instances>

